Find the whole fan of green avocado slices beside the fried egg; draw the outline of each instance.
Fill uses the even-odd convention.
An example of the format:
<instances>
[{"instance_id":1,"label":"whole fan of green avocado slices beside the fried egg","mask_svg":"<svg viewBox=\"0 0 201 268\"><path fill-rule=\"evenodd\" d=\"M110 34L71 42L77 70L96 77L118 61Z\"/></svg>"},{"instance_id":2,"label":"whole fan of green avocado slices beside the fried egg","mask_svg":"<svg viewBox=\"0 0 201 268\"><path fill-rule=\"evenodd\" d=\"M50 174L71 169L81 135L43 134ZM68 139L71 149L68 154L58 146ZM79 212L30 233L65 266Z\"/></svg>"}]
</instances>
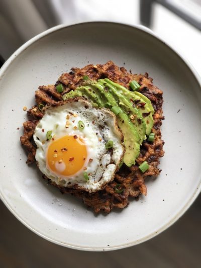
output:
<instances>
[{"instance_id":1,"label":"whole fan of green avocado slices beside the fried egg","mask_svg":"<svg viewBox=\"0 0 201 268\"><path fill-rule=\"evenodd\" d=\"M107 78L100 79L98 82L86 80L75 91L65 94L63 100L75 97L87 98L94 107L110 107L110 109L115 108L114 106L118 107L117 121L123 132L126 148L124 162L128 166L134 164L139 155L140 143L144 139L145 131L149 135L153 126L152 113L154 110L149 99L141 93L131 92ZM141 103L143 103L142 106L139 105ZM136 119L141 120L142 129L131 122L131 115L135 115Z\"/></svg>"}]
</instances>

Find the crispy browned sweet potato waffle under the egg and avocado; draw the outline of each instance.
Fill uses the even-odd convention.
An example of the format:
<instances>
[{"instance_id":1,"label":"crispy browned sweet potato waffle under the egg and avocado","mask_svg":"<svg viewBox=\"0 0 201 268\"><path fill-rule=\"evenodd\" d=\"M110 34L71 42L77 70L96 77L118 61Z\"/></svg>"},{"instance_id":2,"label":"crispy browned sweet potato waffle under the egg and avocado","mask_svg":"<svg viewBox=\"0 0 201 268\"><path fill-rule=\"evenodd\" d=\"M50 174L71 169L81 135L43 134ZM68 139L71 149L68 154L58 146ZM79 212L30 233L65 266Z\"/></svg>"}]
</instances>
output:
<instances>
[{"instance_id":1,"label":"crispy browned sweet potato waffle under the egg and avocado","mask_svg":"<svg viewBox=\"0 0 201 268\"><path fill-rule=\"evenodd\" d=\"M26 121L24 126L24 135L21 137L21 143L28 150L27 163L35 162L36 145L33 142L33 134L38 121L43 117L43 113L39 110L38 105L56 105L57 102L62 102L62 96L75 90L82 82L82 77L87 75L90 79L97 80L99 78L109 78L114 82L122 84L129 88L129 83L132 80L136 80L140 85L140 90L152 103L154 108L154 124L152 132L155 133L154 142L144 140L140 154L136 159L136 164L127 167L122 165L120 170L116 173L114 181L107 184L104 190L100 190L96 193L87 193L85 191L79 191L73 188L60 187L54 183L54 186L58 187L62 193L70 193L78 198L81 198L83 202L94 209L96 213L104 211L110 213L113 208L125 208L128 206L128 198L139 198L141 194L146 195L147 189L145 186L145 179L149 176L157 177L160 173L158 168L159 158L164 155L163 144L161 139L160 126L164 119L162 111L163 92L152 83L152 78L148 76L148 73L132 74L131 71L127 72L124 67L118 67L112 61L108 61L106 64L89 64L83 68L72 68L69 73L63 73L55 85L42 85L39 86L39 90L36 91L35 98L36 104L30 110L28 110L28 116L30 120ZM62 83L64 91L57 93L56 85ZM147 161L149 169L142 173L139 169L139 165ZM44 178L48 179L45 175ZM49 180L51 183L51 181ZM117 193L115 191L118 185L118 189L124 190Z\"/></svg>"}]
</instances>

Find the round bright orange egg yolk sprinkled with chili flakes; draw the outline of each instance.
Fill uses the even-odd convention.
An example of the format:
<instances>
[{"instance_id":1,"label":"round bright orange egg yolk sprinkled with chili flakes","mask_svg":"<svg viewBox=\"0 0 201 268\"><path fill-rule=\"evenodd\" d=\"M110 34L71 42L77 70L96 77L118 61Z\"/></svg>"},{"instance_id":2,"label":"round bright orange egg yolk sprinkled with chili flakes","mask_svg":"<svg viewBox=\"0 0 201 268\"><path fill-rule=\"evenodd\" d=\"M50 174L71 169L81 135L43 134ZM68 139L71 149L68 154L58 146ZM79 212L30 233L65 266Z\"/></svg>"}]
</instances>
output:
<instances>
[{"instance_id":1,"label":"round bright orange egg yolk sprinkled with chili flakes","mask_svg":"<svg viewBox=\"0 0 201 268\"><path fill-rule=\"evenodd\" d=\"M67 135L50 143L46 165L58 175L71 176L83 168L86 156L84 141L77 135Z\"/></svg>"}]
</instances>

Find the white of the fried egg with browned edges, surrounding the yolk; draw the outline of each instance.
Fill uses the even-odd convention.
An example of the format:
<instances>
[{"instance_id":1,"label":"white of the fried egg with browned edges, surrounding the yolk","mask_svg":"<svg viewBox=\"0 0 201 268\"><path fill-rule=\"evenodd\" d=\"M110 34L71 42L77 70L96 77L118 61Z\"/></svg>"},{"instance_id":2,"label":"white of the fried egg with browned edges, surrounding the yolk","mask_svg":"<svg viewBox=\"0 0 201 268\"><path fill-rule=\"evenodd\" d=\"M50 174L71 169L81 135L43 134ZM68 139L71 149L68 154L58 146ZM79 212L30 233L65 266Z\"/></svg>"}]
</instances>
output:
<instances>
[{"instance_id":1,"label":"white of the fried egg with browned edges, surrounding the yolk","mask_svg":"<svg viewBox=\"0 0 201 268\"><path fill-rule=\"evenodd\" d=\"M69 114L71 114L68 119L69 127L66 128L66 115ZM78 127L78 121L84 123L83 129ZM52 137L55 136L56 139L66 135L77 135L83 139L87 157L77 173L71 176L58 176L47 167L46 153L51 142L47 141L48 130L52 131ZM112 153L109 153L105 146L109 140L113 140L114 143ZM59 186L88 192L96 192L113 180L124 154L122 134L117 127L115 115L107 109L96 109L83 99L69 100L63 105L46 109L43 118L36 126L34 141L37 145L35 157L42 173ZM92 162L89 162L89 158L93 159ZM83 169L84 166L87 170ZM89 174L87 182L83 176L85 171Z\"/></svg>"}]
</instances>

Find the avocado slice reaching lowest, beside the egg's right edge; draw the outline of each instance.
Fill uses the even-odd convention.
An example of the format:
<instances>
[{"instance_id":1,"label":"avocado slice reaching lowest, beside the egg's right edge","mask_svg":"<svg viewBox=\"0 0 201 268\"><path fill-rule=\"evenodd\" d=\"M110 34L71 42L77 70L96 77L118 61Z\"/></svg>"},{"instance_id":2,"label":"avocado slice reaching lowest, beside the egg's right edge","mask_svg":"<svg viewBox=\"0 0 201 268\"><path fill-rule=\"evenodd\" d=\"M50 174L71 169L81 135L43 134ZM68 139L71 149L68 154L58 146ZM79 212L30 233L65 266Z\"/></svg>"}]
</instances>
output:
<instances>
[{"instance_id":1,"label":"avocado slice reaching lowest, beside the egg's right edge","mask_svg":"<svg viewBox=\"0 0 201 268\"><path fill-rule=\"evenodd\" d=\"M98 82L93 82L93 85L101 94L105 96L107 102L109 102L112 107L118 106L118 103L113 95L105 90L105 86ZM121 128L124 135L124 145L126 149L124 154L124 162L127 166L132 166L140 153L140 136L127 114L123 112L121 108L120 113L117 115L117 120L118 126Z\"/></svg>"}]
</instances>

